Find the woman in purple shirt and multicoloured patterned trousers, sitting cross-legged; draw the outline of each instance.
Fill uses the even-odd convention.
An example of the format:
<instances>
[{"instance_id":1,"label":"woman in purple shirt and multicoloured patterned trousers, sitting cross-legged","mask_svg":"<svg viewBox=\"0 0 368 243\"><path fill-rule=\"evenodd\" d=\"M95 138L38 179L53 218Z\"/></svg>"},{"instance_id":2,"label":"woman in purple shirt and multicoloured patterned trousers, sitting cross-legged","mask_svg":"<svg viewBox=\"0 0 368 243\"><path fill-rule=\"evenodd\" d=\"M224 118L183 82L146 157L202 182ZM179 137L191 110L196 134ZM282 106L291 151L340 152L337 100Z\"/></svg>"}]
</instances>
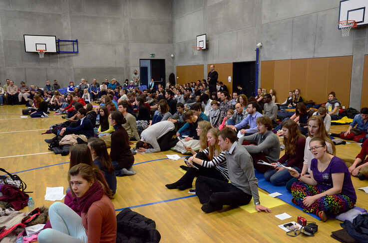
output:
<instances>
[{"instance_id":1,"label":"woman in purple shirt and multicoloured patterned trousers, sitting cross-legged","mask_svg":"<svg viewBox=\"0 0 368 243\"><path fill-rule=\"evenodd\" d=\"M348 167L341 158L326 152L325 140L313 137L309 145L315 157L311 163L311 177L290 171L300 180L292 185L292 201L303 211L315 213L327 221L330 215L352 209L357 202L357 194Z\"/></svg>"}]
</instances>

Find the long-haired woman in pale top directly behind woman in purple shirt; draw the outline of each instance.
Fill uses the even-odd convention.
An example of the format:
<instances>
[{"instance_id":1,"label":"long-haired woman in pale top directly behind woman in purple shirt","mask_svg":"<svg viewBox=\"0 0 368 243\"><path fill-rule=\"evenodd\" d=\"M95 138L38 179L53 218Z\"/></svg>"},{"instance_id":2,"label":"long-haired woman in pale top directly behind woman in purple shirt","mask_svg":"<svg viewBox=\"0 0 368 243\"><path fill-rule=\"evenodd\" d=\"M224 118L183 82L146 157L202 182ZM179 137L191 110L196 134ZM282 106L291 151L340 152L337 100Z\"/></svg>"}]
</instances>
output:
<instances>
[{"instance_id":1,"label":"long-haired woman in pale top directly behind woman in purple shirt","mask_svg":"<svg viewBox=\"0 0 368 243\"><path fill-rule=\"evenodd\" d=\"M302 169L302 176L310 176L311 172L311 162L312 159L314 159L313 154L310 152L310 146L309 143L312 140L313 137L322 137L326 141L327 146L327 152L335 155L336 154L336 148L334 143L332 142L329 134L326 131L324 121L321 117L313 116L310 119L308 119L308 137L306 139L306 146L304 147L304 162L303 162L303 169ZM298 180L296 178L291 179L286 184L286 189L288 189L289 192L291 192L291 186L294 182L297 182Z\"/></svg>"}]
</instances>

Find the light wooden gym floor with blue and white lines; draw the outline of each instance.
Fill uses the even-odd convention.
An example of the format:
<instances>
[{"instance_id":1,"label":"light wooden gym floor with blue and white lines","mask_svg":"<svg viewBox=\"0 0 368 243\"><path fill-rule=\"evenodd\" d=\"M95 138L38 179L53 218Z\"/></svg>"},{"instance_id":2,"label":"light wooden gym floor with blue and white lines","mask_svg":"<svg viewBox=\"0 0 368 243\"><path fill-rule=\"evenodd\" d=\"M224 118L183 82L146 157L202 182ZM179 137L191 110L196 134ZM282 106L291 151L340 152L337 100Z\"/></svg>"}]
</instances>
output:
<instances>
[{"instance_id":1,"label":"light wooden gym floor with blue and white lines","mask_svg":"<svg viewBox=\"0 0 368 243\"><path fill-rule=\"evenodd\" d=\"M0 167L18 174L24 180L27 190L33 191L29 196L34 198L36 207L49 207L53 202L44 200L46 187L63 186L64 190L68 187L69 158L50 153L43 139L53 135L41 133L51 125L65 120L54 115L46 119L20 118L22 109L25 107L18 105L0 107ZM331 132L343 131L347 127L348 125L332 126ZM354 160L360 149L355 142L338 145L337 156ZM292 220L296 221L298 216L305 217L307 221L316 221L289 204L272 208L271 214L250 214L240 208L227 206L222 211L203 213L197 197L189 194L188 190L169 190L165 187L165 184L173 183L183 175L179 171L183 160L171 161L166 154L174 152L134 155L133 169L137 174L117 178L116 196L112 201L117 210L131 207L133 211L153 219L161 234L161 242L295 243L306 240L304 236L288 237L277 227ZM353 177L353 183L358 195L357 206L367 209L368 196L357 188L367 186L368 181ZM27 208L23 211L27 211ZM275 217L285 212L293 218L281 221ZM314 241L334 242L330 235L341 229L340 223L336 219L326 223L318 221L319 228Z\"/></svg>"}]
</instances>

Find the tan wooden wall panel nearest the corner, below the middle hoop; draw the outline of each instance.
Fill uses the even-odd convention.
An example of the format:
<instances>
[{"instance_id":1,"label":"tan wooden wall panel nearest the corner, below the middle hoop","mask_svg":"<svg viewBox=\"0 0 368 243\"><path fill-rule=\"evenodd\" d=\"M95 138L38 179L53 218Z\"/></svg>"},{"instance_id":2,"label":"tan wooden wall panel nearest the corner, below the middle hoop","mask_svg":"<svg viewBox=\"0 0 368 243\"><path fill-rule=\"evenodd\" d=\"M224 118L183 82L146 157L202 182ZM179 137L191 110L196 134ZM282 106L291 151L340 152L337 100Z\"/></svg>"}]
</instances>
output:
<instances>
[{"instance_id":1,"label":"tan wooden wall panel nearest the corner, below the middle hoop","mask_svg":"<svg viewBox=\"0 0 368 243\"><path fill-rule=\"evenodd\" d=\"M176 67L176 83L184 84L190 82L197 82L202 80L204 73L204 65L188 65L188 66L177 66Z\"/></svg>"}]
</instances>

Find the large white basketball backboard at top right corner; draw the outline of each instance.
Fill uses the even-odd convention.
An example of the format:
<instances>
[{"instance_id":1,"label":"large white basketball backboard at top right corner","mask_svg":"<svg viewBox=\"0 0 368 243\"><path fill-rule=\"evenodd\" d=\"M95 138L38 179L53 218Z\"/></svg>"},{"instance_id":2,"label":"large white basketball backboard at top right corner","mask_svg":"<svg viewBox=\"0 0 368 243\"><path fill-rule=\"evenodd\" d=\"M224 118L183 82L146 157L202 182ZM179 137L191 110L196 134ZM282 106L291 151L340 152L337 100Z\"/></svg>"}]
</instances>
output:
<instances>
[{"instance_id":1,"label":"large white basketball backboard at top right corner","mask_svg":"<svg viewBox=\"0 0 368 243\"><path fill-rule=\"evenodd\" d=\"M368 25L366 16L368 9L368 0L342 0L340 1L339 21L355 20L357 27ZM338 25L341 29L343 26Z\"/></svg>"}]
</instances>

